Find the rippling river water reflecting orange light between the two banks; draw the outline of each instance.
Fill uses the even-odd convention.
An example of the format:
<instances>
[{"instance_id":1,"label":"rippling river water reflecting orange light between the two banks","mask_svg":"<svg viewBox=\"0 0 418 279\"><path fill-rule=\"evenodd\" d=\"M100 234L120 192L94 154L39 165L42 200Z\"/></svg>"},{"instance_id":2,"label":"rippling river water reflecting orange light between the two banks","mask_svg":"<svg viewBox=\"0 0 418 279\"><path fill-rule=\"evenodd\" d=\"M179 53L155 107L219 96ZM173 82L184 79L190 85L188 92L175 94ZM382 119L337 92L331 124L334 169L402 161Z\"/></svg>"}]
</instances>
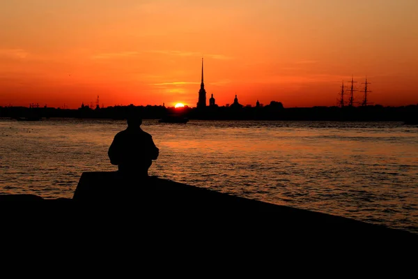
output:
<instances>
[{"instance_id":1,"label":"rippling river water reflecting orange light between the two banks","mask_svg":"<svg viewBox=\"0 0 418 279\"><path fill-rule=\"evenodd\" d=\"M144 120L149 174L418 233L418 126L399 122ZM82 172L114 171L125 121L0 119L0 193L71 198Z\"/></svg>"}]
</instances>

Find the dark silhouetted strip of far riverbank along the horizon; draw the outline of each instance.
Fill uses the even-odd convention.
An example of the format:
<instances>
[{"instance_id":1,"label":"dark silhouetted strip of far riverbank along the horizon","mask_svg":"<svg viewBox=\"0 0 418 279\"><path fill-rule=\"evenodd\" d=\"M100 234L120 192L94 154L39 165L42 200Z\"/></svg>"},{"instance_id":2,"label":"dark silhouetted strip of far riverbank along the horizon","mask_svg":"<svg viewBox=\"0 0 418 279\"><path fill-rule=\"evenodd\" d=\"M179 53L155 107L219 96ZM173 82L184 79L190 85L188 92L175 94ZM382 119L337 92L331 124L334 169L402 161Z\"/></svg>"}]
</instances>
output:
<instances>
[{"instance_id":1,"label":"dark silhouetted strip of far riverbank along the horizon","mask_svg":"<svg viewBox=\"0 0 418 279\"><path fill-rule=\"evenodd\" d=\"M255 104L254 104L255 105ZM258 106L209 106L209 107L164 107L161 105L114 106L78 109L54 107L1 107L0 117L36 116L36 118L76 118L76 119L125 119L130 110L137 110L144 119L163 119L177 115L187 119L201 120L279 120L279 121L415 121L418 105L383 107L366 105L359 107L284 107L280 102Z\"/></svg>"}]
</instances>

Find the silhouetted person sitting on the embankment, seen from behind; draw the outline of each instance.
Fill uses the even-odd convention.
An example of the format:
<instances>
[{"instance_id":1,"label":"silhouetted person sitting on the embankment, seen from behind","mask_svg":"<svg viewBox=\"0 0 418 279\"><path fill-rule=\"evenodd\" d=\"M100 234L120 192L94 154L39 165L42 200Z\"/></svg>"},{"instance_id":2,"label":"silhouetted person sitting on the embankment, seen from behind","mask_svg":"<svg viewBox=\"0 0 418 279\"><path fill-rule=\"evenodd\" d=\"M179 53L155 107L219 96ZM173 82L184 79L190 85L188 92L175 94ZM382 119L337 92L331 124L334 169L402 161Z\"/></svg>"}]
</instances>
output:
<instances>
[{"instance_id":1,"label":"silhouetted person sitting on the embankment, seen from behind","mask_svg":"<svg viewBox=\"0 0 418 279\"><path fill-rule=\"evenodd\" d=\"M137 178L148 177L148 169L159 155L153 137L140 128L139 114L127 116L127 128L114 137L108 151L110 163L118 165L121 174Z\"/></svg>"}]
</instances>

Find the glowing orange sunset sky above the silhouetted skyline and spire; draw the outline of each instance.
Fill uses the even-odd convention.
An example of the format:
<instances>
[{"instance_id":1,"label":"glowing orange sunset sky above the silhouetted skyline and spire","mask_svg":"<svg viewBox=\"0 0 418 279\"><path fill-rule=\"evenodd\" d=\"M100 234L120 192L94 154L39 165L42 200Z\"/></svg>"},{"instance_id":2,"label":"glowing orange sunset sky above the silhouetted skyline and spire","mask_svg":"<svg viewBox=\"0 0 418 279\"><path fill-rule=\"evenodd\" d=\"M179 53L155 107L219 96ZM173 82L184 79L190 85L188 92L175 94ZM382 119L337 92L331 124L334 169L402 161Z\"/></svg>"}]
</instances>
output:
<instances>
[{"instance_id":1,"label":"glowing orange sunset sky above the silhouetted skyline and spire","mask_svg":"<svg viewBox=\"0 0 418 279\"><path fill-rule=\"evenodd\" d=\"M371 82L418 103L417 0L13 0L0 3L0 105L336 105ZM361 101L362 93L355 99Z\"/></svg>"}]
</instances>

